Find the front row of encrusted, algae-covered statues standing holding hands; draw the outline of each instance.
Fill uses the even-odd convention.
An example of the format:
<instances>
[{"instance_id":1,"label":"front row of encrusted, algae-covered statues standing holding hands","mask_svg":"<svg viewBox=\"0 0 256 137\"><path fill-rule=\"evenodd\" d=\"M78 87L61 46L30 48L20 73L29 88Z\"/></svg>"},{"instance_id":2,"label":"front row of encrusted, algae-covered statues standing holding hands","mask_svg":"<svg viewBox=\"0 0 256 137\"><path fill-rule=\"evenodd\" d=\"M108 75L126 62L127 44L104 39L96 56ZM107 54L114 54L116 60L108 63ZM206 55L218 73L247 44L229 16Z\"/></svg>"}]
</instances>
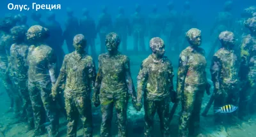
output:
<instances>
[{"instance_id":1,"label":"front row of encrusted, algae-covered statues standing holding hands","mask_svg":"<svg viewBox=\"0 0 256 137\"><path fill-rule=\"evenodd\" d=\"M248 18L245 22L250 34L241 45L240 63L239 56L234 51L236 39L230 31L220 33L222 46L214 54L211 63L214 107L227 104L239 106L239 117L242 119L255 104L255 23L256 17ZM97 72L92 56L84 52L86 38L83 34L77 34L73 40L75 50L65 55L57 78L54 69L56 57L52 48L45 44L49 36L47 31L47 28L40 25L33 25L28 31L26 26L17 25L10 29L10 33L6 32L1 37L1 47L12 43L10 56L1 54L1 77L6 91L14 97L14 102L23 103L21 108L17 104L16 109L20 109L20 115L28 120L29 128L35 128L35 135L44 133L41 125L44 124L45 114L50 122L47 125L49 136L58 134L56 98L61 90L64 90L67 111L67 136L76 136L77 115L82 120L84 136L92 136L92 104L101 107L101 136L111 136L114 107L118 118L118 136L127 136L126 113L129 97L136 110L140 111L144 106L145 136L152 135L156 112L159 115L162 135L170 136L170 101L182 105L180 136L188 136L189 131L198 129L202 98L205 89L209 88L205 70L207 61L204 49L200 48L202 40L199 29L193 28L186 32L189 47L180 53L177 92L173 88L172 62L164 55L165 44L159 37L150 40L152 54L141 64L136 92L131 78L129 57L118 52L121 41L118 34L110 32L106 35L108 52L99 55ZM30 46L24 42L25 38ZM207 94L211 94L209 90ZM232 115L236 117L236 113ZM216 124L223 123L220 121L223 121L223 116L216 114Z\"/></svg>"}]
</instances>

